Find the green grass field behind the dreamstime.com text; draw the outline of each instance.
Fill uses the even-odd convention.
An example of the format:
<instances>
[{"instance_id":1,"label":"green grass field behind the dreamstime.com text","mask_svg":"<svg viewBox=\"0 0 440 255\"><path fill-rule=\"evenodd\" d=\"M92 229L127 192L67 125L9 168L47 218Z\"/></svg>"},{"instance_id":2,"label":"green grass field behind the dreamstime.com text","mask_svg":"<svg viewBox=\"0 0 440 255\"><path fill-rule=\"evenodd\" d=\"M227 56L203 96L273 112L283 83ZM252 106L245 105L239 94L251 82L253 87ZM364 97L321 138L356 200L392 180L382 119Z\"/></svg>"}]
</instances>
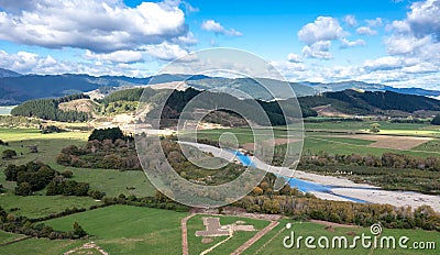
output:
<instances>
[{"instance_id":1,"label":"green grass field behind the dreamstime.com text","mask_svg":"<svg viewBox=\"0 0 440 255\"><path fill-rule=\"evenodd\" d=\"M285 229L286 223L292 222L293 226L290 230ZM308 250L305 246L304 240L301 241L300 248L296 248L294 246L292 250L288 250L283 246L283 239L285 236L290 235L290 231L295 231L295 236L298 237L299 235L307 237L314 236L318 239L319 236L328 236L331 240L332 236L345 236L349 241L353 240L354 235L361 235L365 233L365 235L373 236L370 232L370 228L340 228L334 226L334 230L329 231L326 230L324 225L311 223L311 222L293 222L287 220L282 220L280 223L274 228L271 232L268 232L265 236L258 240L254 245L252 245L248 251L243 254L439 254L439 245L438 241L440 240L440 233L438 232L428 232L422 230L391 230L385 229L382 232L383 236L394 236L398 240L400 236L408 236L410 241L408 242L408 246L413 244L414 241L416 242L426 242L426 241L435 241L437 242L436 247L437 250L404 250L399 248L398 244L396 244L396 250L375 250L371 251L367 248L362 247L361 242L358 242L356 248L353 250L337 250L337 248L316 248L316 250ZM350 235L350 234L351 235ZM353 235L354 234L354 235ZM295 237L295 239L296 239ZM352 242L350 242L351 244ZM315 241L317 244L317 241Z\"/></svg>"}]
</instances>

